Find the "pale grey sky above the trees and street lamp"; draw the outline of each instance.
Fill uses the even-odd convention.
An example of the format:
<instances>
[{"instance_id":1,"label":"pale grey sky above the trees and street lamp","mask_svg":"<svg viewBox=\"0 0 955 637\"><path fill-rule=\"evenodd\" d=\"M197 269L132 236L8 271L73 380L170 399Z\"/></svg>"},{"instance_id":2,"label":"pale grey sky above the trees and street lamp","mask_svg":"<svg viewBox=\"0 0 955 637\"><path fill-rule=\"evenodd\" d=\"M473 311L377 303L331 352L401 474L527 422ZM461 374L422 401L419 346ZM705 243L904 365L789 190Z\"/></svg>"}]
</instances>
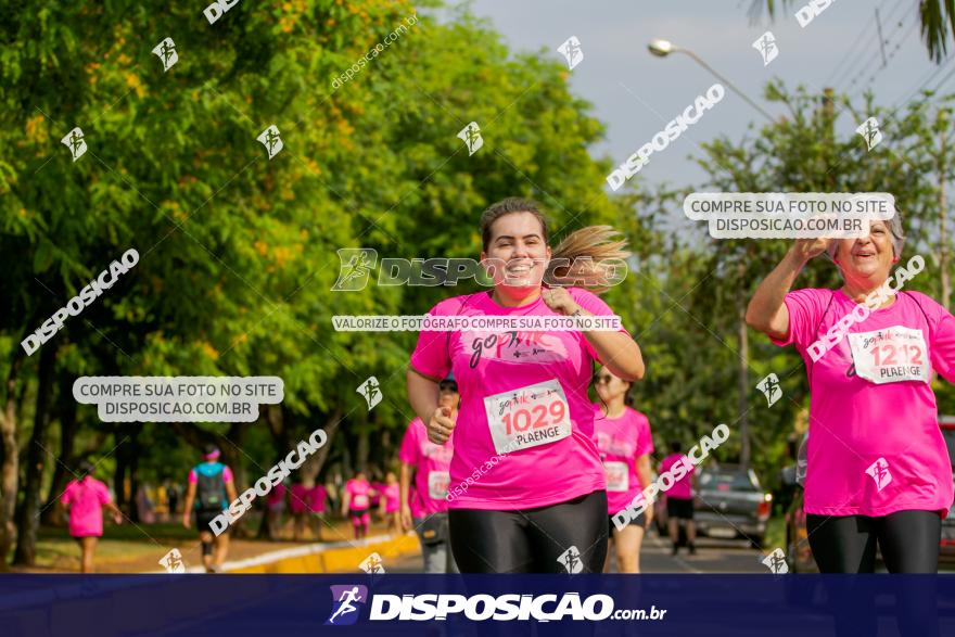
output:
<instances>
[{"instance_id":1,"label":"pale grey sky above the trees and street lamp","mask_svg":"<svg viewBox=\"0 0 955 637\"><path fill-rule=\"evenodd\" d=\"M811 91L832 87L837 92L858 93L855 103L860 107L866 88L871 88L877 104L894 106L919 86L955 86L948 77L955 71L951 58L941 67L929 60L919 36L917 3L912 0L833 1L805 27L794 16L802 7L800 0L773 22L764 11L753 23L750 7L750 0L471 2L471 11L489 20L513 51L543 49L545 55L563 61L557 48L576 36L584 59L571 71L571 89L594 104L593 115L607 126L607 139L591 153L609 155L614 165L649 142L717 81L686 54L651 55L647 43L653 38L690 49L774 117L784 114L784 106L763 98L765 84L774 77L790 89L804 85ZM886 42L884 66L877 9ZM752 44L767 30L773 31L778 55L764 65ZM639 178L651 186L701 183L704 173L688 158L702 155L699 144L724 135L739 140L751 124L765 122L759 111L726 88L725 98L699 122L664 151L653 153ZM837 120L837 133L854 135L860 124L846 113ZM883 133L890 136L890 130Z\"/></svg>"}]
</instances>

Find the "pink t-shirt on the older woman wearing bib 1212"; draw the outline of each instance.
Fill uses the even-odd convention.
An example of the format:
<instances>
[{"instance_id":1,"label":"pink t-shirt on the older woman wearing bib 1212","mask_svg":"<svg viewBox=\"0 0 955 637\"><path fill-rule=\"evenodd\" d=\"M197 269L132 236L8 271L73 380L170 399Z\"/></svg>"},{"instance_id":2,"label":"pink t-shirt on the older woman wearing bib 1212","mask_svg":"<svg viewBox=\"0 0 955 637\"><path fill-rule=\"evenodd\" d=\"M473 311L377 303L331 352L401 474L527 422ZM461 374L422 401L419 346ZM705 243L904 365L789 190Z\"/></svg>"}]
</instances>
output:
<instances>
[{"instance_id":1,"label":"pink t-shirt on the older woman wearing bib 1212","mask_svg":"<svg viewBox=\"0 0 955 637\"><path fill-rule=\"evenodd\" d=\"M856 304L841 290L806 289L787 294L786 307L789 334L774 343L794 344L810 379L805 512L944 517L952 463L935 395L918 379L934 370L955 382L955 318L925 294L903 292L813 362L808 346Z\"/></svg>"}]
</instances>

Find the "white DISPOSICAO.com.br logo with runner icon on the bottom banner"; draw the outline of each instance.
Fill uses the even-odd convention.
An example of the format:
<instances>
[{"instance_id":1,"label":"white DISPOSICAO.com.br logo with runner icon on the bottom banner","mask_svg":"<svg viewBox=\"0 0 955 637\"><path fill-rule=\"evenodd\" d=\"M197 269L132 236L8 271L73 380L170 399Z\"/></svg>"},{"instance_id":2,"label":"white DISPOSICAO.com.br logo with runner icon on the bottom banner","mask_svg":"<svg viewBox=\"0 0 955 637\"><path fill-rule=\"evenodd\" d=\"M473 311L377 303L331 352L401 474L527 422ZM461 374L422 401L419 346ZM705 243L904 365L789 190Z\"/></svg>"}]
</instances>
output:
<instances>
[{"instance_id":1,"label":"white DISPOSICAO.com.br logo with runner icon on the bottom banner","mask_svg":"<svg viewBox=\"0 0 955 637\"><path fill-rule=\"evenodd\" d=\"M359 585L332 586L331 615L326 625L354 624L360 606L368 599L368 589ZM602 620L662 620L665 609L652 606L645 609L615 610L609 595L590 595L581 598L580 593L521 595L373 595L368 613L369 621L445 621L448 615L462 614L475 622L485 620L559 622L561 620L599 622ZM359 606L360 604L360 606Z\"/></svg>"}]
</instances>

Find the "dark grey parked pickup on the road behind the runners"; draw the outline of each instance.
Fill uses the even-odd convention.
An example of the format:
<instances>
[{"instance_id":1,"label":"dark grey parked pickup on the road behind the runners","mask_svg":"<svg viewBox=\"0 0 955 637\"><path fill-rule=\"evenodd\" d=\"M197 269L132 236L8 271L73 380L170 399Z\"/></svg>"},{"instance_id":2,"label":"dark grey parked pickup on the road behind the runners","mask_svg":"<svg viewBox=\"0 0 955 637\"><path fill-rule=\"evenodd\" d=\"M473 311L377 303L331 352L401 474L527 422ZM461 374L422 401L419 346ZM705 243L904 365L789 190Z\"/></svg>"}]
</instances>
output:
<instances>
[{"instance_id":1,"label":"dark grey parked pickup on the road behind the runners","mask_svg":"<svg viewBox=\"0 0 955 637\"><path fill-rule=\"evenodd\" d=\"M773 495L761 485L752 469L720 464L700 472L700 489L693 498L697 535L733 539L746 537L761 548Z\"/></svg>"}]
</instances>

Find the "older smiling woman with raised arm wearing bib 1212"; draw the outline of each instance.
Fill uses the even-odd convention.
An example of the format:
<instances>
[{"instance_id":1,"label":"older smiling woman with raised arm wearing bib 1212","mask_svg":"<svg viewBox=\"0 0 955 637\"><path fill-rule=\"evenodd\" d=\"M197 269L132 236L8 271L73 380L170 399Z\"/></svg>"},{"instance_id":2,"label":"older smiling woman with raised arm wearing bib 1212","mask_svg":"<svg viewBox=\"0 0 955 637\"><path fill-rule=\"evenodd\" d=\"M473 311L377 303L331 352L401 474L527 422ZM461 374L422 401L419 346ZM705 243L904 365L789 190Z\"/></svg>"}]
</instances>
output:
<instances>
[{"instance_id":1,"label":"older smiling woman with raised arm wearing bib 1212","mask_svg":"<svg viewBox=\"0 0 955 637\"><path fill-rule=\"evenodd\" d=\"M795 345L805 360L804 506L824 573L873 572L876 542L890 572L938 571L953 485L930 381L938 372L955 382L955 318L925 294L901 291L921 257L890 277L903 243L897 215L870 221L863 239L800 239L747 309L753 329ZM790 292L824 252L843 285Z\"/></svg>"}]
</instances>

